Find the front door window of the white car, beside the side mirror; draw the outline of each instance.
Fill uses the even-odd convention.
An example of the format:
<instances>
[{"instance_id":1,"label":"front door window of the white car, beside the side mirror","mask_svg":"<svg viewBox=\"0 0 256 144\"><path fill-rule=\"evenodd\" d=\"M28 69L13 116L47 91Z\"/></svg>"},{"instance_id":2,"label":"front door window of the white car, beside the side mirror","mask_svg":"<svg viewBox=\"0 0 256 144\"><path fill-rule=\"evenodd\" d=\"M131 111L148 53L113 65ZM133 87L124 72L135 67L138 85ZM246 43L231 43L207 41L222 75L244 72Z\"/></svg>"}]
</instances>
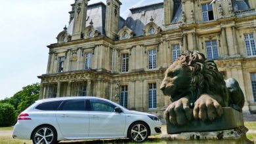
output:
<instances>
[{"instance_id":1,"label":"front door window of the white car, beside the side mirror","mask_svg":"<svg viewBox=\"0 0 256 144\"><path fill-rule=\"evenodd\" d=\"M108 101L102 101L99 99L90 99L91 111L104 111L114 112L116 105L109 103Z\"/></svg>"}]
</instances>

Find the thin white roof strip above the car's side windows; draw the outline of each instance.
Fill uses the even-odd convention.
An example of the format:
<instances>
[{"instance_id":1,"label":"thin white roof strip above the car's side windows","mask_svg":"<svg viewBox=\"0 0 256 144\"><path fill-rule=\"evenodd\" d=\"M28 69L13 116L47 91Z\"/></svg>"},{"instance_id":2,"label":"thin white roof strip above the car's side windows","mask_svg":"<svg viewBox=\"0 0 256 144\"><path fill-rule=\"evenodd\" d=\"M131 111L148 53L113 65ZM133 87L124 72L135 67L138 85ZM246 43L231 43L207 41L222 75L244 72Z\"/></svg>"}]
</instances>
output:
<instances>
[{"instance_id":1,"label":"thin white roof strip above the car's side windows","mask_svg":"<svg viewBox=\"0 0 256 144\"><path fill-rule=\"evenodd\" d=\"M47 101L60 101L60 100L68 100L68 99L103 99L103 98L98 98L96 96L72 96L72 97L39 99L35 102L42 103L42 102L47 102ZM108 99L103 99L103 100L108 100Z\"/></svg>"}]
</instances>

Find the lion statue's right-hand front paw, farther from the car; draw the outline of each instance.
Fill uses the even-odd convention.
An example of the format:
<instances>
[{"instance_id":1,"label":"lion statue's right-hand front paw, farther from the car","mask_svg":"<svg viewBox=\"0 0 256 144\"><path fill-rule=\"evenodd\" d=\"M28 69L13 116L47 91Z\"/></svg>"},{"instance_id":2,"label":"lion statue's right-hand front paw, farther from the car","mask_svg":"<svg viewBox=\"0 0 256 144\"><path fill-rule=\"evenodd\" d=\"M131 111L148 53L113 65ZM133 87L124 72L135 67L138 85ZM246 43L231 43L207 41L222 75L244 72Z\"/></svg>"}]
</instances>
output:
<instances>
[{"instance_id":1,"label":"lion statue's right-hand front paw, farther from the car","mask_svg":"<svg viewBox=\"0 0 256 144\"><path fill-rule=\"evenodd\" d=\"M223 107L211 96L203 94L195 102L193 115L195 119L214 120L223 115Z\"/></svg>"}]
</instances>

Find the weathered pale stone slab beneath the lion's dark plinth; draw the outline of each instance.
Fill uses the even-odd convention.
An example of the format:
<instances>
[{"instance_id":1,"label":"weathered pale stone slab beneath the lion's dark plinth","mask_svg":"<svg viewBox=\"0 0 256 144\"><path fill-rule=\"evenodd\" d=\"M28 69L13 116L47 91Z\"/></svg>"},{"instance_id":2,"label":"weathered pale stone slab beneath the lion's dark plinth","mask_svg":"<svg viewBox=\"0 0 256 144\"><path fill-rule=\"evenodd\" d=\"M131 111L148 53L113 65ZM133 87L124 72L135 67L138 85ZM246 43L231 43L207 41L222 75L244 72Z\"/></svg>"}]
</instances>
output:
<instances>
[{"instance_id":1,"label":"weathered pale stone slab beneath the lion's dark plinth","mask_svg":"<svg viewBox=\"0 0 256 144\"><path fill-rule=\"evenodd\" d=\"M167 144L194 144L194 143L223 143L242 144L253 143L246 137L247 128L244 126L234 130L221 130L216 132L182 132L181 134L163 135L161 139Z\"/></svg>"}]
</instances>

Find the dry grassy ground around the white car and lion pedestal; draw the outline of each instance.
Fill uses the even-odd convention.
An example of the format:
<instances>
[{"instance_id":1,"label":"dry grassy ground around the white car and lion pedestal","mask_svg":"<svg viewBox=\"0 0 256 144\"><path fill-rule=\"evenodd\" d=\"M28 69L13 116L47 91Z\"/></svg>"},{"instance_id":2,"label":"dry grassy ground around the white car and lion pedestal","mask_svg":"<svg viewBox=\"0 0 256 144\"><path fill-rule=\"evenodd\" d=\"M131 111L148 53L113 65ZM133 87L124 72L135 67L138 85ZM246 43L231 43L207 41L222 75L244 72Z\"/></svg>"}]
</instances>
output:
<instances>
[{"instance_id":1,"label":"dry grassy ground around the white car and lion pedestal","mask_svg":"<svg viewBox=\"0 0 256 144\"><path fill-rule=\"evenodd\" d=\"M251 131L256 131L256 122L245 122L245 127L248 128ZM13 127L3 127L0 128L0 133L1 131L5 131L5 130L12 130ZM162 126L162 129L166 129L166 126ZM251 141L256 142L256 132L255 133L247 133L247 138L250 139ZM12 139L12 137L0 137L0 143L1 144L32 144L32 141L29 140L22 140L22 139ZM123 144L123 143L127 143L127 144L137 144L137 143L133 143L131 142L131 140L129 139L99 139L99 140L81 140L81 141L61 141L60 143L62 144ZM160 139L160 135L156 135L156 136L150 136L148 138L147 141L144 142L145 144L150 144L150 143L159 143L159 144L165 144L166 141L163 141Z\"/></svg>"}]
</instances>

